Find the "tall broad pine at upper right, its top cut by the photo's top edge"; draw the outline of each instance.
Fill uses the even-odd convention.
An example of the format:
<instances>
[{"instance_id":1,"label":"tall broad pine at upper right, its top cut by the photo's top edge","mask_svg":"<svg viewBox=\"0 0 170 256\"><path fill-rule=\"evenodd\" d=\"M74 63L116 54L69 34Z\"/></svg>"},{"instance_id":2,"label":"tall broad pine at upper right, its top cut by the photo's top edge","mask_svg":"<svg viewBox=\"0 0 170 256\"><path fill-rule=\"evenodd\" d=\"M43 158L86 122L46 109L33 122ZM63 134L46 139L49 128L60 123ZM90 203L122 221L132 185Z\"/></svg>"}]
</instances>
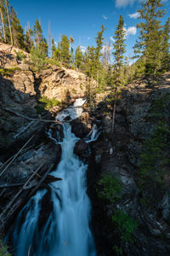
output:
<instances>
[{"instance_id":1,"label":"tall broad pine at upper right, its top cut by the photo's top edge","mask_svg":"<svg viewBox=\"0 0 170 256\"><path fill-rule=\"evenodd\" d=\"M164 10L161 0L146 0L139 9L140 28L139 42L135 45L136 52L143 55L145 74L155 74L161 67L161 20Z\"/></svg>"}]
</instances>

